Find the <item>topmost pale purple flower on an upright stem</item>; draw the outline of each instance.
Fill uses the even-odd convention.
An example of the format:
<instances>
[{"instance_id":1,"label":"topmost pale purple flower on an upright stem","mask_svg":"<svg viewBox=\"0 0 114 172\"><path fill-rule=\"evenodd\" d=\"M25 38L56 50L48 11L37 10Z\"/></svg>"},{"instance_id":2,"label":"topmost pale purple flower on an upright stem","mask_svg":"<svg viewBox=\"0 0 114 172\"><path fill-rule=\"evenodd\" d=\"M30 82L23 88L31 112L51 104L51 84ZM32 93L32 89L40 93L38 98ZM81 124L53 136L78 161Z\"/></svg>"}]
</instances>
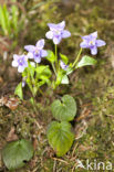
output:
<instances>
[{"instance_id":1,"label":"topmost pale purple flower on an upright stem","mask_svg":"<svg viewBox=\"0 0 114 172\"><path fill-rule=\"evenodd\" d=\"M46 39L53 40L54 44L59 44L62 39L71 36L71 33L65 28L65 21L62 21L59 24L49 23L48 26L50 28L50 31L46 32L45 36Z\"/></svg>"}]
</instances>

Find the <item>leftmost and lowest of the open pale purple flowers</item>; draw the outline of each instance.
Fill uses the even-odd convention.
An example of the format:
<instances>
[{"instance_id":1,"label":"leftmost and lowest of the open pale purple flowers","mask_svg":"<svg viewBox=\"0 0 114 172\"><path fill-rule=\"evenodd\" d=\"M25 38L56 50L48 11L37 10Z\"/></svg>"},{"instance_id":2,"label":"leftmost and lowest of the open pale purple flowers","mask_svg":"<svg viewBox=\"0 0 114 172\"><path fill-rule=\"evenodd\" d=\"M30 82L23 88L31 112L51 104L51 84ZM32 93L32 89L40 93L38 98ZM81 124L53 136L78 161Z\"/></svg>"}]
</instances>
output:
<instances>
[{"instance_id":1,"label":"leftmost and lowest of the open pale purple flowers","mask_svg":"<svg viewBox=\"0 0 114 172\"><path fill-rule=\"evenodd\" d=\"M28 56L22 54L22 55L13 55L13 61L12 61L12 66L18 67L18 72L22 73L25 67L28 67Z\"/></svg>"}]
</instances>

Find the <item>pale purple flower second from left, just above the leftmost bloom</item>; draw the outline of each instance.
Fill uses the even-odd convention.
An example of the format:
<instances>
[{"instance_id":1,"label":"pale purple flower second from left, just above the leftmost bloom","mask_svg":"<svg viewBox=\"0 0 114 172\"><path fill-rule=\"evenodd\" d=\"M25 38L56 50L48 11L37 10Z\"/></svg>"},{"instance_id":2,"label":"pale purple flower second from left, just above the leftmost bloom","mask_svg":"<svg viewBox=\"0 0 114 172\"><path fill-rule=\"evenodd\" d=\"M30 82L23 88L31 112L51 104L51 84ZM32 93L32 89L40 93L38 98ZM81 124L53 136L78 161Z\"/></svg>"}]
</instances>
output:
<instances>
[{"instance_id":1,"label":"pale purple flower second from left, just above the leftmost bloom","mask_svg":"<svg viewBox=\"0 0 114 172\"><path fill-rule=\"evenodd\" d=\"M29 52L28 57L29 58L34 58L37 63L41 62L42 57L48 56L48 52L43 50L44 47L44 40L39 40L34 45L25 45L24 49Z\"/></svg>"}]
</instances>

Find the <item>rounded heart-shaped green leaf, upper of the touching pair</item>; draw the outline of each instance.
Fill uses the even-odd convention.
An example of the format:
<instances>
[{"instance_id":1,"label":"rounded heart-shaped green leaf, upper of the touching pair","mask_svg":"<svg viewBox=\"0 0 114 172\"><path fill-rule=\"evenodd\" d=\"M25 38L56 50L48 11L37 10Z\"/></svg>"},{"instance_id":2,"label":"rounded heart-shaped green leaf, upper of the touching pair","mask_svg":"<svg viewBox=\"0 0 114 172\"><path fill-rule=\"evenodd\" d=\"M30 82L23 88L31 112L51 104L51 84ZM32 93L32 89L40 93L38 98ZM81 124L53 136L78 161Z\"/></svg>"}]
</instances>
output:
<instances>
[{"instance_id":1,"label":"rounded heart-shaped green leaf, upper of the touching pair","mask_svg":"<svg viewBox=\"0 0 114 172\"><path fill-rule=\"evenodd\" d=\"M73 97L65 95L62 101L54 100L51 105L53 117L60 121L71 121L76 115L76 103Z\"/></svg>"}]
</instances>

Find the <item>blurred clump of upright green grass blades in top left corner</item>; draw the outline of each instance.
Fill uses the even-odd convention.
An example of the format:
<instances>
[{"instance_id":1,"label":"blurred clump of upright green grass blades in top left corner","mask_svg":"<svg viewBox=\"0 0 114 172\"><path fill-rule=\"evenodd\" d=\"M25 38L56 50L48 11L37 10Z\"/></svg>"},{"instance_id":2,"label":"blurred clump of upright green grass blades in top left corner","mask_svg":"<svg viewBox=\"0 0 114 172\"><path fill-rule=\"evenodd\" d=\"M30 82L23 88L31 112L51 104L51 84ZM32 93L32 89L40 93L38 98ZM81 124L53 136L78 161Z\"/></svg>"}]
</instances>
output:
<instances>
[{"instance_id":1,"label":"blurred clump of upright green grass blades in top left corner","mask_svg":"<svg viewBox=\"0 0 114 172\"><path fill-rule=\"evenodd\" d=\"M23 26L23 19L19 17L15 0L11 0L10 3L10 10L7 3L0 4L0 26L3 35L17 37Z\"/></svg>"}]
</instances>

